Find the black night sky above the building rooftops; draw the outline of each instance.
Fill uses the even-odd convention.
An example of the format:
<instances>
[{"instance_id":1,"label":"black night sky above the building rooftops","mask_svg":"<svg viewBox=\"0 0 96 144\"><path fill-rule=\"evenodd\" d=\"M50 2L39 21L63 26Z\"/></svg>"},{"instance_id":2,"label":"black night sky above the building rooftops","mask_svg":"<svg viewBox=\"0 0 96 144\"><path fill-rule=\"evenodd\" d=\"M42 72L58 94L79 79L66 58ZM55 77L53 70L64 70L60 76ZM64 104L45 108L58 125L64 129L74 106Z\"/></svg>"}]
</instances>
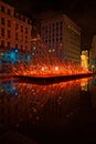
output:
<instances>
[{"instance_id":1,"label":"black night sky above the building rooftops","mask_svg":"<svg viewBox=\"0 0 96 144\"><path fill-rule=\"evenodd\" d=\"M82 29L82 45L90 47L96 34L95 0L3 0L39 22L43 18L60 13L67 14Z\"/></svg>"}]
</instances>

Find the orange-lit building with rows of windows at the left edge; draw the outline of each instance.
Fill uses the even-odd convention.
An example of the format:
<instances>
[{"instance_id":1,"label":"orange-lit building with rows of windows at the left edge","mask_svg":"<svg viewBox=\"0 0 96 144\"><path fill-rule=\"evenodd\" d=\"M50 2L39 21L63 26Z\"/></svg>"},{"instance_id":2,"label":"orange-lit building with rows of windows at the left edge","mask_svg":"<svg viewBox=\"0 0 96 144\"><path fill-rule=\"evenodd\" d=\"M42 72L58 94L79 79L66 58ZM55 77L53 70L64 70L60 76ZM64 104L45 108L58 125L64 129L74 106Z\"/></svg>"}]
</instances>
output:
<instances>
[{"instance_id":1,"label":"orange-lit building with rows of windows at the left edge","mask_svg":"<svg viewBox=\"0 0 96 144\"><path fill-rule=\"evenodd\" d=\"M0 1L0 49L31 50L31 21Z\"/></svg>"}]
</instances>

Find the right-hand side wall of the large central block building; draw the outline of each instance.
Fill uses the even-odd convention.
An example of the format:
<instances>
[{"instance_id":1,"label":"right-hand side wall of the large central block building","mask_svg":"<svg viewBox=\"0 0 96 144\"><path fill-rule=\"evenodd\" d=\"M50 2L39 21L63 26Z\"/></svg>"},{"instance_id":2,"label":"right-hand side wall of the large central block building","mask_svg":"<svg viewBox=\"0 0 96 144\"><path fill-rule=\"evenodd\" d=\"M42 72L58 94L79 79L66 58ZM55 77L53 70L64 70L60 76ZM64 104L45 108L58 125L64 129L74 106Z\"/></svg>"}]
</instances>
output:
<instances>
[{"instance_id":1,"label":"right-hand side wall of the large central block building","mask_svg":"<svg viewBox=\"0 0 96 144\"><path fill-rule=\"evenodd\" d=\"M63 45L66 59L81 62L81 29L65 14L63 28Z\"/></svg>"}]
</instances>

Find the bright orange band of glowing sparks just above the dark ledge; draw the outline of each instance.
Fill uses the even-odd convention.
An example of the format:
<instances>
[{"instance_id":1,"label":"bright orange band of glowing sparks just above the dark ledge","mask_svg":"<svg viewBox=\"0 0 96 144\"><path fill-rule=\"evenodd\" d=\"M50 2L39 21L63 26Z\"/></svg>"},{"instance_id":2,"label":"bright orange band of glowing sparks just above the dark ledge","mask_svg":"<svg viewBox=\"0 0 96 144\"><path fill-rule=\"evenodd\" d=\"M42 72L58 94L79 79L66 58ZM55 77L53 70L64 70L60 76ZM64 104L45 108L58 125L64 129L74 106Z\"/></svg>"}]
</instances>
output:
<instances>
[{"instance_id":1,"label":"bright orange band of glowing sparks just above the dark ledge","mask_svg":"<svg viewBox=\"0 0 96 144\"><path fill-rule=\"evenodd\" d=\"M38 65L33 65L32 63L25 64L20 63L15 64L12 69L12 74L15 75L26 75L26 76L54 76L54 75L73 75L73 74L84 74L92 73L86 69L81 68L78 64L73 64L68 62L67 64L44 64L40 63Z\"/></svg>"}]
</instances>

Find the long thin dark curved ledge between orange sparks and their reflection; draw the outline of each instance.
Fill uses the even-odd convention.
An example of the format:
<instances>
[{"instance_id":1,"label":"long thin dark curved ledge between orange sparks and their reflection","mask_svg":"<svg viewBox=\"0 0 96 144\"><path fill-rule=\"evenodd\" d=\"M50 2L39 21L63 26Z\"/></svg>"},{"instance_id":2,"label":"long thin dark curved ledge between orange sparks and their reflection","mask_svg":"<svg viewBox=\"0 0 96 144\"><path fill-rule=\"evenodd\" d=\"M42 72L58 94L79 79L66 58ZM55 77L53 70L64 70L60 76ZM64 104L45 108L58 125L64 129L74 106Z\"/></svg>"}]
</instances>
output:
<instances>
[{"instance_id":1,"label":"long thin dark curved ledge between orange sparks and their reflection","mask_svg":"<svg viewBox=\"0 0 96 144\"><path fill-rule=\"evenodd\" d=\"M76 79L83 79L93 76L94 73L84 73L84 74L73 74L73 75L49 75L49 76L23 76L23 75L13 75L13 78L18 78L21 81L29 83L39 83L39 84L52 84L66 82Z\"/></svg>"}]
</instances>

